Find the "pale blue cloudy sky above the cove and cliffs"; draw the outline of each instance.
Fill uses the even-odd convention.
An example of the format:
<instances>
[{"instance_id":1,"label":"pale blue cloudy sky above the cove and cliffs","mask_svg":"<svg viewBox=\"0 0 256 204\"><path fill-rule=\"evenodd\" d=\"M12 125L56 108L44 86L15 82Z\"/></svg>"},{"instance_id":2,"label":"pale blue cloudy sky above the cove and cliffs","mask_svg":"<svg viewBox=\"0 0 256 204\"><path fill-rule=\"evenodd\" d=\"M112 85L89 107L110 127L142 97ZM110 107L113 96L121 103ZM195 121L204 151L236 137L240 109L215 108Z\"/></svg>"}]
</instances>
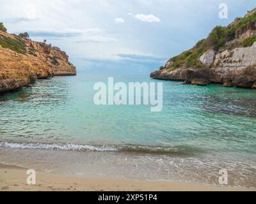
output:
<instances>
[{"instance_id":1,"label":"pale blue cloudy sky above the cove and cliffs","mask_svg":"<svg viewBox=\"0 0 256 204\"><path fill-rule=\"evenodd\" d=\"M228 18L219 17L220 4ZM255 0L0 0L8 33L28 32L78 72L149 74L256 7Z\"/></svg>"}]
</instances>

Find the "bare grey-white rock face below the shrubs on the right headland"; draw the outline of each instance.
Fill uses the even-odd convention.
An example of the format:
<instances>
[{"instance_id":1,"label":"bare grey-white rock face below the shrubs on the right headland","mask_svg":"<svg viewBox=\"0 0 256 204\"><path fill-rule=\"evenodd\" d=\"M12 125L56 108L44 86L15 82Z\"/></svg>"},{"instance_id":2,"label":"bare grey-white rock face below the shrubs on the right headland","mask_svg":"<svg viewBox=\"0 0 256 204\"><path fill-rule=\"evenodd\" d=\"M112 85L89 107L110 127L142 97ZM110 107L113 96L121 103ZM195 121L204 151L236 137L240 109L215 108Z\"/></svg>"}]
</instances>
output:
<instances>
[{"instance_id":1,"label":"bare grey-white rock face below the shrubs on the right headland","mask_svg":"<svg viewBox=\"0 0 256 204\"><path fill-rule=\"evenodd\" d=\"M256 88L256 42L252 47L224 50L216 55L213 50L209 50L200 57L200 61L205 64L205 68L168 70L164 67L150 77L182 80L197 85L212 82L225 87ZM168 63L170 65L172 62Z\"/></svg>"}]
</instances>

